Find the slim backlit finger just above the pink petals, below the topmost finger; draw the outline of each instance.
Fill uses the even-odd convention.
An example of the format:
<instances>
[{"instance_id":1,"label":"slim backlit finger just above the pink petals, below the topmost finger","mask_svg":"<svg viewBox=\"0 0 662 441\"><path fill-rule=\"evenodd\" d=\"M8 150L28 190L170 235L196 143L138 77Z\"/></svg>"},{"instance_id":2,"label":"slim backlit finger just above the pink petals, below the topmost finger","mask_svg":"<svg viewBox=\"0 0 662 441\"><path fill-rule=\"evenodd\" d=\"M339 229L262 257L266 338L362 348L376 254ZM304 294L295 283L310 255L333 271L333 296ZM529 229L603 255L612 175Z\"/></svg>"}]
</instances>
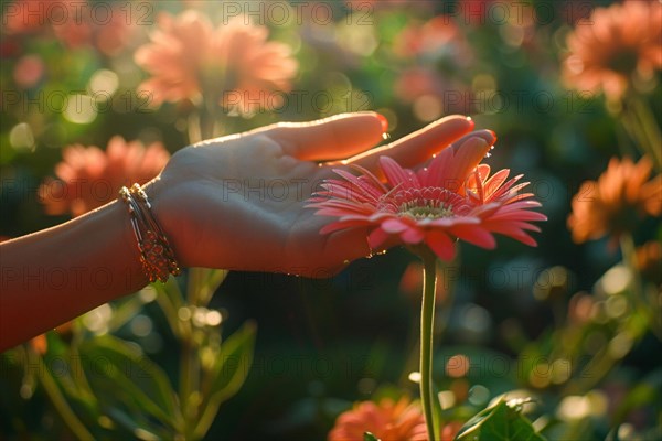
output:
<instances>
[{"instance_id":1,"label":"slim backlit finger just above the pink petals, below the topmost finger","mask_svg":"<svg viewBox=\"0 0 662 441\"><path fill-rule=\"evenodd\" d=\"M364 166L382 178L382 172L377 166L380 157L388 155L404 168L414 168L457 141L471 129L473 129L473 121L470 118L459 115L449 116L387 146L350 158L346 163Z\"/></svg>"}]
</instances>

